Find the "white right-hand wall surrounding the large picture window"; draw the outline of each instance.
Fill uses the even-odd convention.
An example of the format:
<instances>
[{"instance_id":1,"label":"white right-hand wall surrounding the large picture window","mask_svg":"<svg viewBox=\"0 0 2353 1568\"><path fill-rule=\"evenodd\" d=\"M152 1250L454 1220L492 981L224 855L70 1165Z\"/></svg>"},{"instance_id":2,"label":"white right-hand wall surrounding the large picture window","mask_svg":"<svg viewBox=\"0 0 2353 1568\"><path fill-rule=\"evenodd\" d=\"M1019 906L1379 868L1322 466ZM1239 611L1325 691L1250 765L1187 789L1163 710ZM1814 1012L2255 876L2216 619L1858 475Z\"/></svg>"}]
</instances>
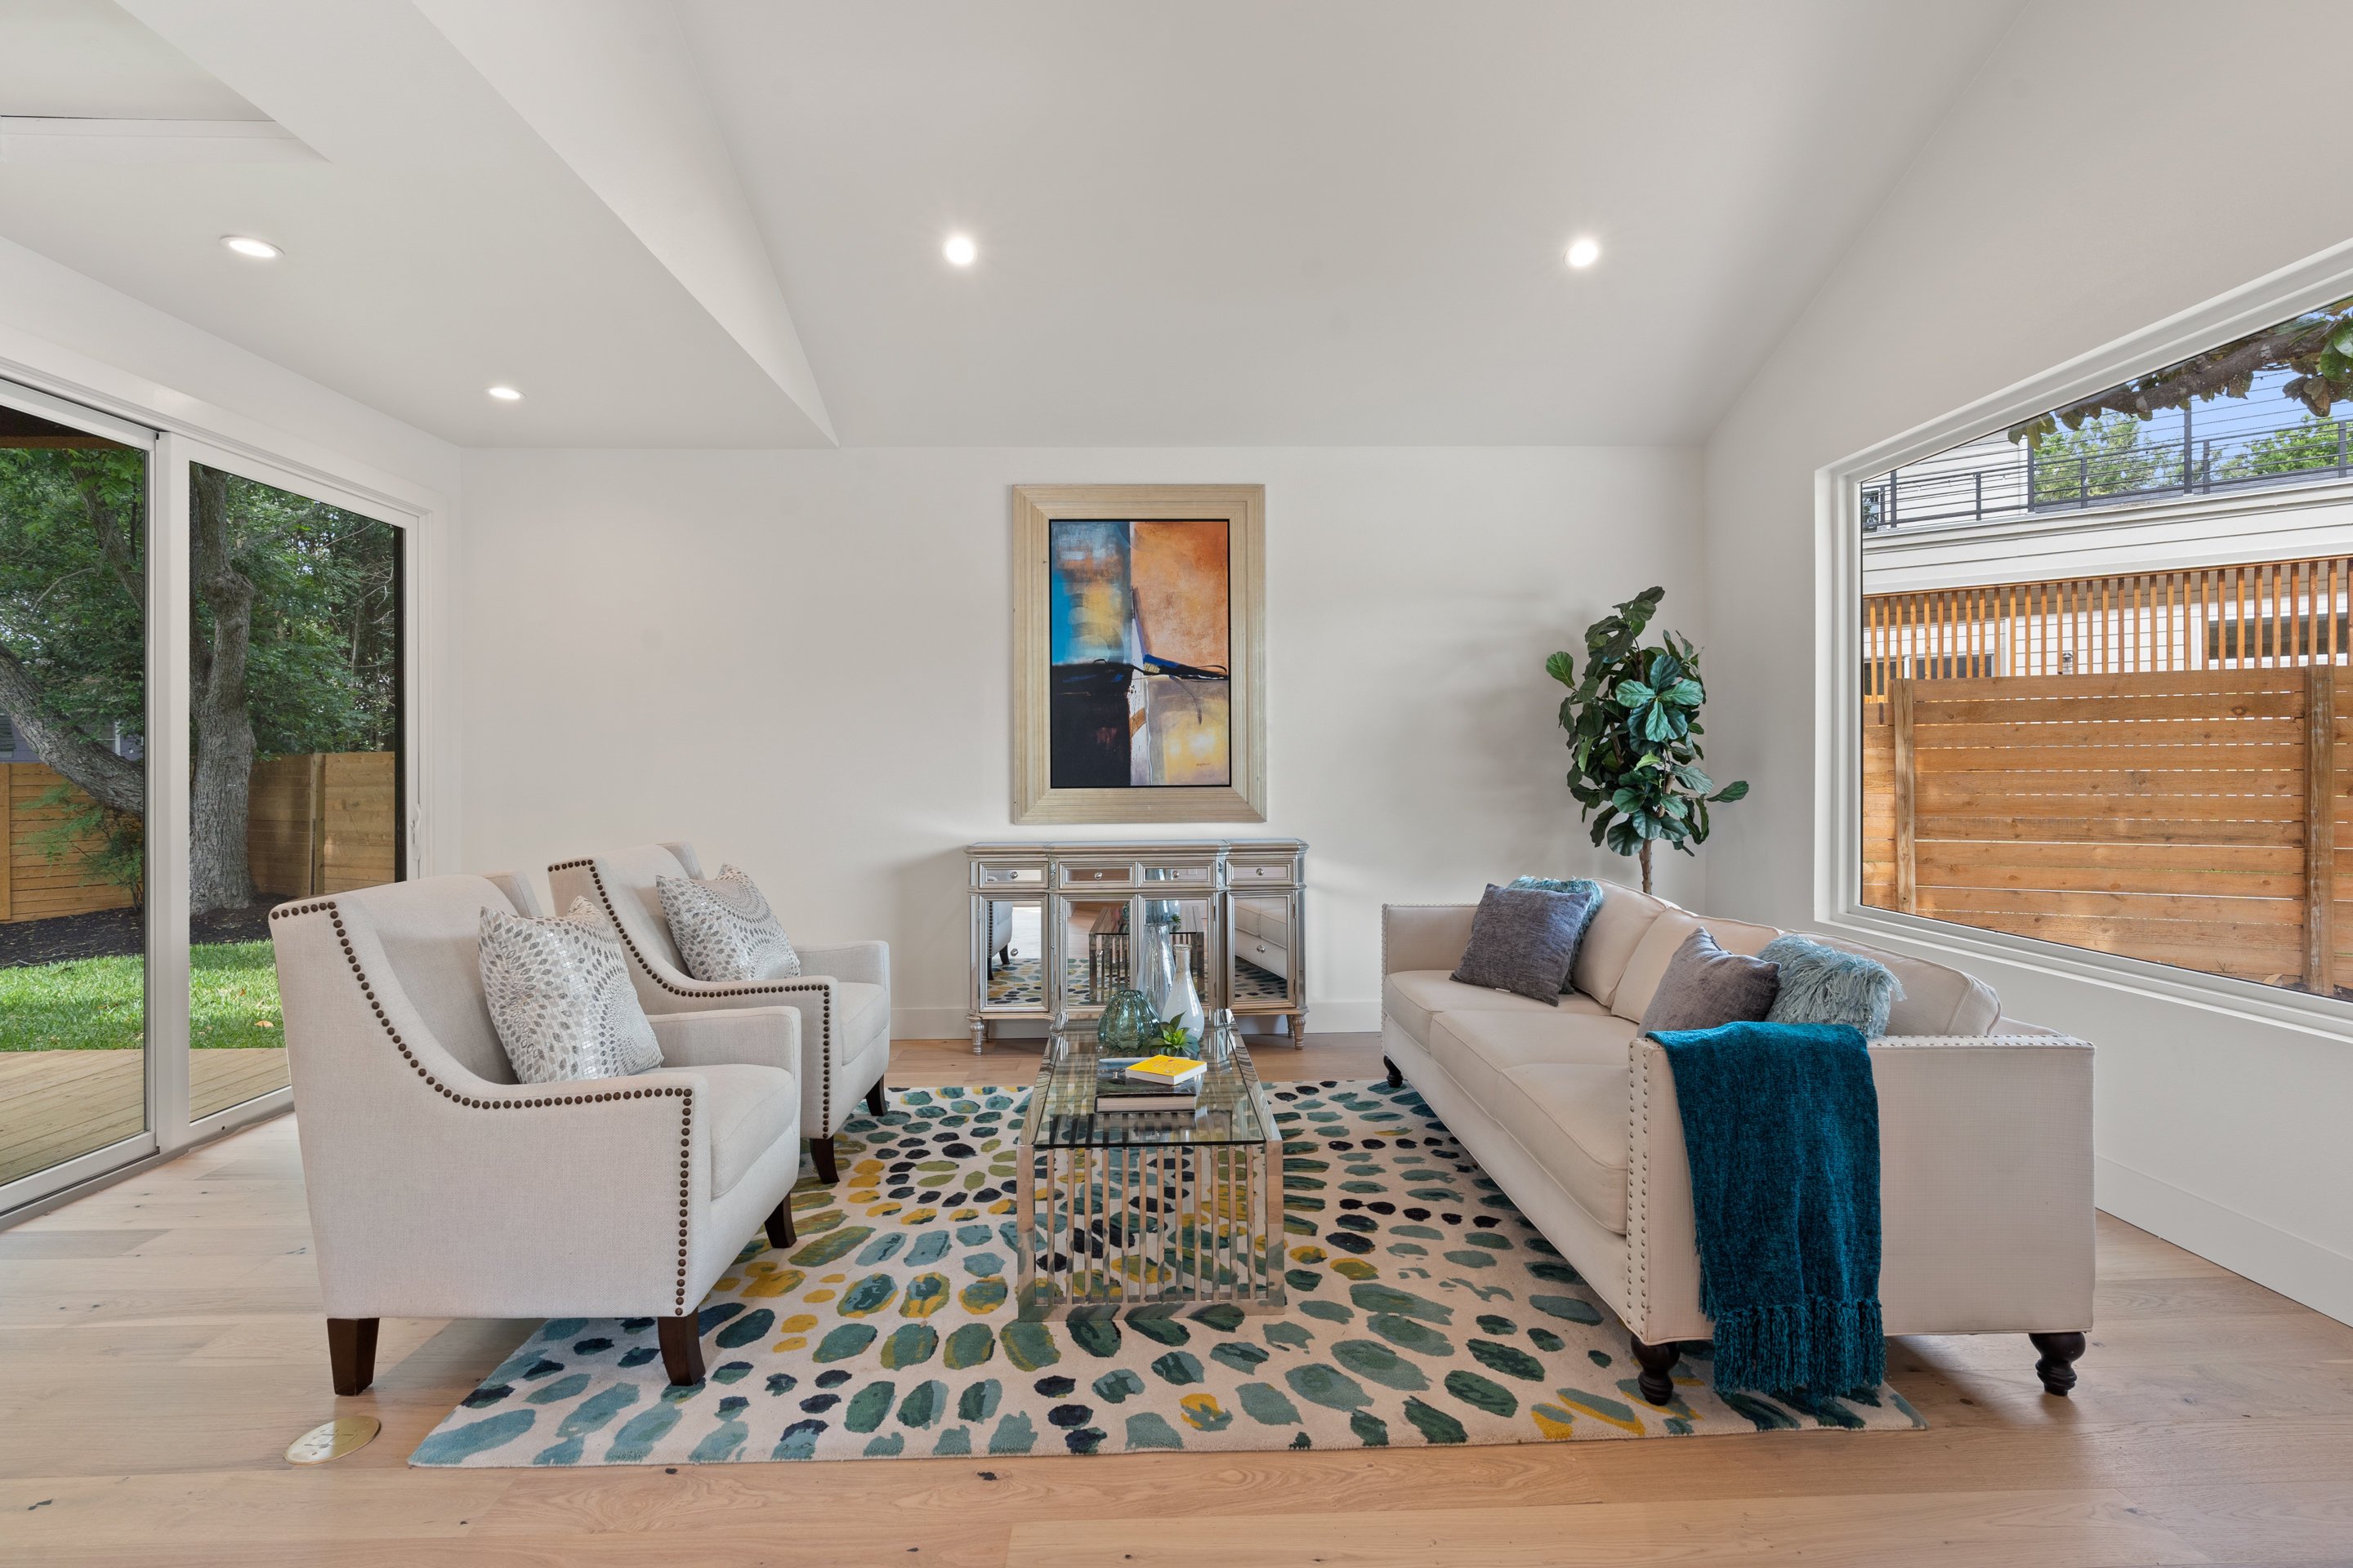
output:
<instances>
[{"instance_id":1,"label":"white right-hand wall surrounding the large picture window","mask_svg":"<svg viewBox=\"0 0 2353 1568\"><path fill-rule=\"evenodd\" d=\"M1725 771L1708 903L1812 914L1814 470L2127 331L2339 244L2353 165L2308 146L2280 49L2341 59L2344 5L2035 5L1706 449ZM1944 221L1953 212L1969 223ZM1969 964L2012 1013L2099 1056L2099 1199L2226 1267L2353 1319L2353 1041Z\"/></svg>"}]
</instances>

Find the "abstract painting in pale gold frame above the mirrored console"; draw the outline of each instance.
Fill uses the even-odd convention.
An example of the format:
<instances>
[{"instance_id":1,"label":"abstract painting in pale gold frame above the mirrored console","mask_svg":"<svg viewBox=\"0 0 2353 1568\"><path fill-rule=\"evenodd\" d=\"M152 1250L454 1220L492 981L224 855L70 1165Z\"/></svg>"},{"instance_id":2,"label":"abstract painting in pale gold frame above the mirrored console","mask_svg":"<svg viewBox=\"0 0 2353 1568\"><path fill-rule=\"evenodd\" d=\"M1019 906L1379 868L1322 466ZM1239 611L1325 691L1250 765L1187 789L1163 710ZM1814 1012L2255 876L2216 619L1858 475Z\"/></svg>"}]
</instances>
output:
<instances>
[{"instance_id":1,"label":"abstract painting in pale gold frame above the mirrored console","mask_svg":"<svg viewBox=\"0 0 2353 1568\"><path fill-rule=\"evenodd\" d=\"M1014 820L1266 820L1266 487L1014 487Z\"/></svg>"}]
</instances>

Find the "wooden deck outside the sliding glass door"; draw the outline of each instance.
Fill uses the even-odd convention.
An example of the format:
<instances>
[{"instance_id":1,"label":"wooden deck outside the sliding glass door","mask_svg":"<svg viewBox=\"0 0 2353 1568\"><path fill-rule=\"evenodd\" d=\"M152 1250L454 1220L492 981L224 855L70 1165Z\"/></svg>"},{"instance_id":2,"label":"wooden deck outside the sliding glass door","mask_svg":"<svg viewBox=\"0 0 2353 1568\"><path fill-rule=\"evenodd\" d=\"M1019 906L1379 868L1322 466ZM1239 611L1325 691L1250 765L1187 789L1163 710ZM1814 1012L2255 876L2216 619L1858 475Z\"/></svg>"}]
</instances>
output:
<instances>
[{"instance_id":1,"label":"wooden deck outside the sliding glass door","mask_svg":"<svg viewBox=\"0 0 2353 1568\"><path fill-rule=\"evenodd\" d=\"M198 1117L285 1088L285 1051L191 1051ZM146 1051L0 1051L0 1182L146 1126Z\"/></svg>"}]
</instances>

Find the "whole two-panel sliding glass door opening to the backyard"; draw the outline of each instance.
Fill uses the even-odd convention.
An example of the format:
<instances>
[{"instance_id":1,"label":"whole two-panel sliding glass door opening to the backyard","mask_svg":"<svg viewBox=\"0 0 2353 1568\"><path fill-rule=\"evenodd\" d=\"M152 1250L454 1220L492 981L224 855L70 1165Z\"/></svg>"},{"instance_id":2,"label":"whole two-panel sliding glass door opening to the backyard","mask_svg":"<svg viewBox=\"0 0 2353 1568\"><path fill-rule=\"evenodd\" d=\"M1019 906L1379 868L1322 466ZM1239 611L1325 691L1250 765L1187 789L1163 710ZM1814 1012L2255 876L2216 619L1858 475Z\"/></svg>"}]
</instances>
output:
<instances>
[{"instance_id":1,"label":"whole two-panel sliding glass door opening to the backyard","mask_svg":"<svg viewBox=\"0 0 2353 1568\"><path fill-rule=\"evenodd\" d=\"M0 383L0 1218L289 1103L268 910L409 875L409 534Z\"/></svg>"}]
</instances>

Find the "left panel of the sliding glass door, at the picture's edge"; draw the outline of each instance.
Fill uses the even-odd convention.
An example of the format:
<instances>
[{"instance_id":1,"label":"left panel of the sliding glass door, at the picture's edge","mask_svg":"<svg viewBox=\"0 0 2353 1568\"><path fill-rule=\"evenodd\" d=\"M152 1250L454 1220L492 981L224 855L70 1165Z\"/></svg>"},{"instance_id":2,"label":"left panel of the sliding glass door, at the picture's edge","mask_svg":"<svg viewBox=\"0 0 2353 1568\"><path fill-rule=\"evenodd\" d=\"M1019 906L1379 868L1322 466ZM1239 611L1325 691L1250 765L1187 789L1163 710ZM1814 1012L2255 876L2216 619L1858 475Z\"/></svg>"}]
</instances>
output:
<instances>
[{"instance_id":1,"label":"left panel of the sliding glass door, at the picture's edge","mask_svg":"<svg viewBox=\"0 0 2353 1568\"><path fill-rule=\"evenodd\" d=\"M0 1201L155 1147L153 444L0 388Z\"/></svg>"}]
</instances>

